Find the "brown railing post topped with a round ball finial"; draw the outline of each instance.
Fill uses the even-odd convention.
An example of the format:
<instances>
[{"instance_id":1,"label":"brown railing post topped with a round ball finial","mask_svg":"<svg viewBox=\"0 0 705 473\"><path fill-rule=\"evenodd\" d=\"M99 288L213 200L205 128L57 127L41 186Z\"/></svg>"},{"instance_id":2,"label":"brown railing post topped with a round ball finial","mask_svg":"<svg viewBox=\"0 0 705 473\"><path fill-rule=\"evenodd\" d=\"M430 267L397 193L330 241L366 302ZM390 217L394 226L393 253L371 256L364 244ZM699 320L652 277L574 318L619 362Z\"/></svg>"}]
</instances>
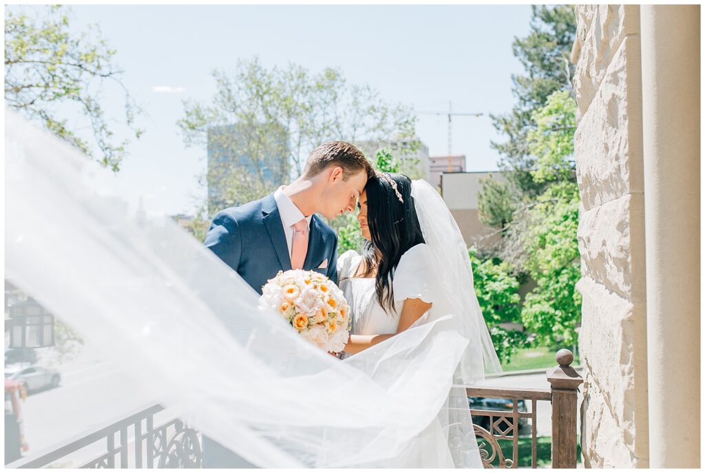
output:
<instances>
[{"instance_id":1,"label":"brown railing post topped with a round ball finial","mask_svg":"<svg viewBox=\"0 0 705 473\"><path fill-rule=\"evenodd\" d=\"M570 367L570 350L558 350L558 367L546 371L551 383L551 467L575 468L577 462L577 388L582 377Z\"/></svg>"}]
</instances>

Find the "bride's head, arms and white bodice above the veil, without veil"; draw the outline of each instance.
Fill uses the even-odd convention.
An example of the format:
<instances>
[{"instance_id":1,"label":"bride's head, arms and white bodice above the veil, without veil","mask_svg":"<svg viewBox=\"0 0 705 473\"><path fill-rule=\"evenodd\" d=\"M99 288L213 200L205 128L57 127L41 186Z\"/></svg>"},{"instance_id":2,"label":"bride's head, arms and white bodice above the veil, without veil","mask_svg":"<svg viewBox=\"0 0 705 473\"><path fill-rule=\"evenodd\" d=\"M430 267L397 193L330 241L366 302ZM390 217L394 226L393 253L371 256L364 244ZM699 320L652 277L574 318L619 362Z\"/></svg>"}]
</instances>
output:
<instances>
[{"instance_id":1,"label":"bride's head, arms and white bodice above the veil, without veil","mask_svg":"<svg viewBox=\"0 0 705 473\"><path fill-rule=\"evenodd\" d=\"M411 187L406 176L381 173L357 202L364 256L349 250L338 259L338 285L353 314L346 354L405 331L439 295Z\"/></svg>"}]
</instances>

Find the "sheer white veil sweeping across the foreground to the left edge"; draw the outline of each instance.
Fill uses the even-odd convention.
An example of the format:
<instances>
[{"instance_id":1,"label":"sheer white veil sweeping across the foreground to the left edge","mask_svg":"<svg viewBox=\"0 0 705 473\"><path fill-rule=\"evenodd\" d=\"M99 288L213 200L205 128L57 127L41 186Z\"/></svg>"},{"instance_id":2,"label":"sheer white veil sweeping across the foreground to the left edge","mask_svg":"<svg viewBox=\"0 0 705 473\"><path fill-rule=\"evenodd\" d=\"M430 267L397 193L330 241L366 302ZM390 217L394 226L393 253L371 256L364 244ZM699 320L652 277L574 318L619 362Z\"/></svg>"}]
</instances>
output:
<instances>
[{"instance_id":1,"label":"sheer white veil sweeping across the foreground to the left edge","mask_svg":"<svg viewBox=\"0 0 705 473\"><path fill-rule=\"evenodd\" d=\"M101 347L130 376L125 395L139 388L262 467L393 465L446 412L469 345L455 317L341 362L171 219L99 195L101 172L6 110L6 277Z\"/></svg>"}]
</instances>

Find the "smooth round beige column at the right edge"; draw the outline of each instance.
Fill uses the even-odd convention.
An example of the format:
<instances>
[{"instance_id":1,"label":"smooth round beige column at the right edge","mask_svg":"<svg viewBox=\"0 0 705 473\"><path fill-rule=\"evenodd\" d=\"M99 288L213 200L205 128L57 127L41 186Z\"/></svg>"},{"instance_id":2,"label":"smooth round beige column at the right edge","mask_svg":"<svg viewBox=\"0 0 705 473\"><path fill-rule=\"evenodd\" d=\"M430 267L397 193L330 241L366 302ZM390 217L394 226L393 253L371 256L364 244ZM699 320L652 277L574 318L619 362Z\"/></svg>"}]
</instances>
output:
<instances>
[{"instance_id":1,"label":"smooth round beige column at the right edge","mask_svg":"<svg viewBox=\"0 0 705 473\"><path fill-rule=\"evenodd\" d=\"M700 7L641 6L649 465L700 467Z\"/></svg>"}]
</instances>

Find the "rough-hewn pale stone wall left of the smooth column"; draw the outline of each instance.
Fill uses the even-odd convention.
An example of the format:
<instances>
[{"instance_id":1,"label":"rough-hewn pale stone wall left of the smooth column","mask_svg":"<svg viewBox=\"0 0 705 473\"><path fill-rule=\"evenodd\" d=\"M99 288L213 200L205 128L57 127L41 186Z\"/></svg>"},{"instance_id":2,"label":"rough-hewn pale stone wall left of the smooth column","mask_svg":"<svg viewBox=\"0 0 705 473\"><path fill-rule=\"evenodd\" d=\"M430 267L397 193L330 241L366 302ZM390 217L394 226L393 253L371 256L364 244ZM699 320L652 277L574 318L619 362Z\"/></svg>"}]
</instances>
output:
<instances>
[{"instance_id":1,"label":"rough-hewn pale stone wall left of the smooth column","mask_svg":"<svg viewBox=\"0 0 705 473\"><path fill-rule=\"evenodd\" d=\"M648 467L639 6L576 8L586 467Z\"/></svg>"}]
</instances>

